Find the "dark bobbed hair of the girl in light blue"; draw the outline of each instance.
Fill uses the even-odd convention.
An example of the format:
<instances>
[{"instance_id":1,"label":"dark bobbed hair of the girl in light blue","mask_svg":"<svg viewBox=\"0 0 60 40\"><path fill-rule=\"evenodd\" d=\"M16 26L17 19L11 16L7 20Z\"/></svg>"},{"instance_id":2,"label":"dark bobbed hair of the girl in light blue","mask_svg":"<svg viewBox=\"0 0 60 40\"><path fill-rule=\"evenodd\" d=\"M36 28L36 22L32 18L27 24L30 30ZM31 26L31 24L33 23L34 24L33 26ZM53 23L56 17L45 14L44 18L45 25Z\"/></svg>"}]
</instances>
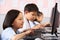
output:
<instances>
[{"instance_id":1,"label":"dark bobbed hair of the girl in light blue","mask_svg":"<svg viewBox=\"0 0 60 40\"><path fill-rule=\"evenodd\" d=\"M15 9L9 10L3 22L3 29L7 27L12 27L12 23L15 20L15 18L19 15L19 13L20 13L19 10L15 10Z\"/></svg>"}]
</instances>

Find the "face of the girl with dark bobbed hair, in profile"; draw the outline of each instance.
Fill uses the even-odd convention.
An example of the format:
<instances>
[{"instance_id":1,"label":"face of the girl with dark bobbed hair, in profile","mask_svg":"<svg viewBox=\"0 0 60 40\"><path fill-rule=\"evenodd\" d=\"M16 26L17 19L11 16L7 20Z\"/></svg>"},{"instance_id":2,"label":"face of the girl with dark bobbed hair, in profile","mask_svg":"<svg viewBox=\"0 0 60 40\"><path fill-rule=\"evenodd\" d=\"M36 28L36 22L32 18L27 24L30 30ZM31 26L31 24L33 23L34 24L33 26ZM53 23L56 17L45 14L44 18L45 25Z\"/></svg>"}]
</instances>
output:
<instances>
[{"instance_id":1,"label":"face of the girl with dark bobbed hair, in profile","mask_svg":"<svg viewBox=\"0 0 60 40\"><path fill-rule=\"evenodd\" d=\"M19 13L19 15L17 16L17 18L14 20L13 22L13 27L19 29L23 27L23 15L22 13Z\"/></svg>"}]
</instances>

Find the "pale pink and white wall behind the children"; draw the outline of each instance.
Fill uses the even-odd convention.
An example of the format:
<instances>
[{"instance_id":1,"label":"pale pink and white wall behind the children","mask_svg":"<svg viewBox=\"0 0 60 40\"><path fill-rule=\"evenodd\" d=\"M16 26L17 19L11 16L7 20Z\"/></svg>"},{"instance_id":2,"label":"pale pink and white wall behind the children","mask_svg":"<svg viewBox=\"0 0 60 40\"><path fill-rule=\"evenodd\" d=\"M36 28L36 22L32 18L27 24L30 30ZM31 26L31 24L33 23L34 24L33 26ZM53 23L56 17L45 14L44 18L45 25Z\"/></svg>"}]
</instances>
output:
<instances>
[{"instance_id":1,"label":"pale pink and white wall behind the children","mask_svg":"<svg viewBox=\"0 0 60 40\"><path fill-rule=\"evenodd\" d=\"M24 6L28 3L35 3L44 17L50 17L51 10L56 0L0 0L0 14L6 14L10 9L24 11Z\"/></svg>"}]
</instances>

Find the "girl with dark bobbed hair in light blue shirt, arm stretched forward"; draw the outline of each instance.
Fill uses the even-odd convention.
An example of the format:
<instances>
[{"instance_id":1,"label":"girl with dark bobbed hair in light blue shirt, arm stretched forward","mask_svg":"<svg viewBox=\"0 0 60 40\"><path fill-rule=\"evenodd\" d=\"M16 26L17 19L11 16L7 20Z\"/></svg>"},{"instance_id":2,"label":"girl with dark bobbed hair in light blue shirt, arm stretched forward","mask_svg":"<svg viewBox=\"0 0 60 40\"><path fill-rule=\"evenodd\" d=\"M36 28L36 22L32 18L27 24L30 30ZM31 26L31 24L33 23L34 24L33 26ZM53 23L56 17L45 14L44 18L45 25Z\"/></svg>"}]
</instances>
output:
<instances>
[{"instance_id":1,"label":"girl with dark bobbed hair in light blue shirt, arm stretched forward","mask_svg":"<svg viewBox=\"0 0 60 40\"><path fill-rule=\"evenodd\" d=\"M23 23L23 16L20 11L14 9L8 11L3 22L4 30L1 34L1 40L18 40L30 34L32 30L17 34L17 30L23 27Z\"/></svg>"}]
</instances>

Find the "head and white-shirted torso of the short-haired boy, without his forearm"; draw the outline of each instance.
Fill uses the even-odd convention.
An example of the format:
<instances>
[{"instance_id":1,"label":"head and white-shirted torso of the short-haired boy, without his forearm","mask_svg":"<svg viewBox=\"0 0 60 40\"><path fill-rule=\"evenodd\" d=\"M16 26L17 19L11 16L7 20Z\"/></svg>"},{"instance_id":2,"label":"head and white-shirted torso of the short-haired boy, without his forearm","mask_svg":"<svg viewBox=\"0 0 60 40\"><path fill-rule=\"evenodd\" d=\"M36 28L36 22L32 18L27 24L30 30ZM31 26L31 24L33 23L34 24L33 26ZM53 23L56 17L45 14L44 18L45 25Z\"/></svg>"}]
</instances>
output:
<instances>
[{"instance_id":1,"label":"head and white-shirted torso of the short-haired boy, without his forearm","mask_svg":"<svg viewBox=\"0 0 60 40\"><path fill-rule=\"evenodd\" d=\"M37 17L38 11L39 11L38 7L33 3L27 4L25 6L25 8L24 8L24 25L23 25L22 29L19 29L19 31L24 31L24 30L27 30L30 28L36 29L36 28L34 28L34 26L35 26L34 20Z\"/></svg>"}]
</instances>

